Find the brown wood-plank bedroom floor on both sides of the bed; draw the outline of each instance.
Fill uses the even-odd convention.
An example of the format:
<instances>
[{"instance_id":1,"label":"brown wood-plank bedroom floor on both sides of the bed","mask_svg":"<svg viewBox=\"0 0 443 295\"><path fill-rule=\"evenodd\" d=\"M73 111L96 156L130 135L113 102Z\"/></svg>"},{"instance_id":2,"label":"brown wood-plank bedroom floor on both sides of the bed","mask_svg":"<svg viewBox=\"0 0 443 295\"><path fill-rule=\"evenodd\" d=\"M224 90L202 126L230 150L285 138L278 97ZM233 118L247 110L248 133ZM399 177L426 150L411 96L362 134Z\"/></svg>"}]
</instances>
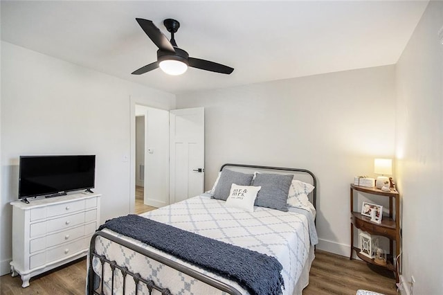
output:
<instances>
[{"instance_id":1,"label":"brown wood-plank bedroom floor on both sides of the bed","mask_svg":"<svg viewBox=\"0 0 443 295\"><path fill-rule=\"evenodd\" d=\"M362 261L317 250L311 267L309 286L303 290L303 295L355 295L357 289L368 289L386 295L396 294L392 273L374 272L378 269L379 267L372 269ZM84 294L86 274L86 260L80 260L49 274L31 278L30 286L26 288L21 288L19 276L1 276L0 294Z\"/></svg>"}]
</instances>

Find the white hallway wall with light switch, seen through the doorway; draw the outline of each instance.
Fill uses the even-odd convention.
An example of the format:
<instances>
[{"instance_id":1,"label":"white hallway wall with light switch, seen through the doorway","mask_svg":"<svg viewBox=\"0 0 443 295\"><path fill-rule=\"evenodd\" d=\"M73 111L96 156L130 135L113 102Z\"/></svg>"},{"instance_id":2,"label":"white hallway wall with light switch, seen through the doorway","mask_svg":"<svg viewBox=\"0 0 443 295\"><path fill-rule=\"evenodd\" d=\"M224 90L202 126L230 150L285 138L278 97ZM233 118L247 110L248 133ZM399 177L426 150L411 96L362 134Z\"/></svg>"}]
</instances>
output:
<instances>
[{"instance_id":1,"label":"white hallway wall with light switch, seen through the doorway","mask_svg":"<svg viewBox=\"0 0 443 295\"><path fill-rule=\"evenodd\" d=\"M169 205L169 111L136 105L136 114L145 116L145 204Z\"/></svg>"}]
</instances>

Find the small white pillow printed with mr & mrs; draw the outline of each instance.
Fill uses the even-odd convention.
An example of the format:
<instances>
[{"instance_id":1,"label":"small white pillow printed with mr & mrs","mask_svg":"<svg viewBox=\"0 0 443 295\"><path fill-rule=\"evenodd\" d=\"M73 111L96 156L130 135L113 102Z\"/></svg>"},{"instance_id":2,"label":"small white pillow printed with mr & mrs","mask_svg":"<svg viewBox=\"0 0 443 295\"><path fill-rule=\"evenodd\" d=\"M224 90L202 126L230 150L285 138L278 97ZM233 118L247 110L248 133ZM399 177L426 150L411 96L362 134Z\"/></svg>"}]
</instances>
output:
<instances>
[{"instance_id":1,"label":"small white pillow printed with mr & mrs","mask_svg":"<svg viewBox=\"0 0 443 295\"><path fill-rule=\"evenodd\" d=\"M230 193L226 199L226 207L242 209L248 212L254 212L254 202L261 186L230 186Z\"/></svg>"}]
</instances>

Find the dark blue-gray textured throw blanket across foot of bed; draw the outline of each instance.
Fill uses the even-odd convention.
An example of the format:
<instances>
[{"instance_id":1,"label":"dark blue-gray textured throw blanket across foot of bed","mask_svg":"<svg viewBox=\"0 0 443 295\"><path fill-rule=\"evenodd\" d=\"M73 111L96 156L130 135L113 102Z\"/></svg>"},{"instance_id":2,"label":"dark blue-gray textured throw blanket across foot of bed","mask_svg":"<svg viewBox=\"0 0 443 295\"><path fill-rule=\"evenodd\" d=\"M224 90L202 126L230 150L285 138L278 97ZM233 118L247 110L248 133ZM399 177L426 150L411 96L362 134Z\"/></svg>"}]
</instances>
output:
<instances>
[{"instance_id":1,"label":"dark blue-gray textured throw blanket across foot of bed","mask_svg":"<svg viewBox=\"0 0 443 295\"><path fill-rule=\"evenodd\" d=\"M282 294L282 265L272 256L206 238L138 215L108 220L110 229L234 280L251 294Z\"/></svg>"}]
</instances>

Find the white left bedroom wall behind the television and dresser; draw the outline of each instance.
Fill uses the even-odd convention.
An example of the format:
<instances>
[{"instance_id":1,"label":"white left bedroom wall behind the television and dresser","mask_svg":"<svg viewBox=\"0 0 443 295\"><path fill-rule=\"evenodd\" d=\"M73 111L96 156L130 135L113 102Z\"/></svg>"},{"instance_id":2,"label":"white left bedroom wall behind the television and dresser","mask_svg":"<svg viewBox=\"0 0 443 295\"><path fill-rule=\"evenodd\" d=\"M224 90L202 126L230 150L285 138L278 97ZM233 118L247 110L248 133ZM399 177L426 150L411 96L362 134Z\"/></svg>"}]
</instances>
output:
<instances>
[{"instance_id":1,"label":"white left bedroom wall behind the television and dresser","mask_svg":"<svg viewBox=\"0 0 443 295\"><path fill-rule=\"evenodd\" d=\"M96 154L102 222L130 211L130 96L172 109L172 94L1 43L1 274L9 271L21 154ZM126 158L126 159L125 159Z\"/></svg>"}]
</instances>

